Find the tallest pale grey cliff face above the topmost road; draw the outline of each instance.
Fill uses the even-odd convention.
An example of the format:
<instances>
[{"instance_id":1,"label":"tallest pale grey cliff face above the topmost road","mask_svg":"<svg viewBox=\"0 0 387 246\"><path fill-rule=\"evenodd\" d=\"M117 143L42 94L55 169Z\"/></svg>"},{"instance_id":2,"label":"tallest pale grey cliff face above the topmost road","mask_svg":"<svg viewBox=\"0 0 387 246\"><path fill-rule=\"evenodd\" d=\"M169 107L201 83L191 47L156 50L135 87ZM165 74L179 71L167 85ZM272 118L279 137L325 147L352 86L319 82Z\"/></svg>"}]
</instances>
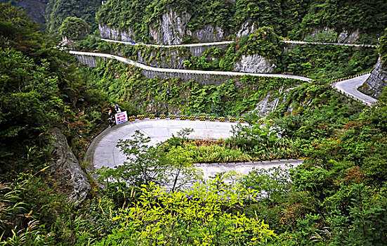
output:
<instances>
[{"instance_id":1,"label":"tallest pale grey cliff face above the topmost road","mask_svg":"<svg viewBox=\"0 0 387 246\"><path fill-rule=\"evenodd\" d=\"M187 12L176 13L169 9L160 20L150 28L150 37L156 44L181 44L191 15Z\"/></svg>"}]
</instances>

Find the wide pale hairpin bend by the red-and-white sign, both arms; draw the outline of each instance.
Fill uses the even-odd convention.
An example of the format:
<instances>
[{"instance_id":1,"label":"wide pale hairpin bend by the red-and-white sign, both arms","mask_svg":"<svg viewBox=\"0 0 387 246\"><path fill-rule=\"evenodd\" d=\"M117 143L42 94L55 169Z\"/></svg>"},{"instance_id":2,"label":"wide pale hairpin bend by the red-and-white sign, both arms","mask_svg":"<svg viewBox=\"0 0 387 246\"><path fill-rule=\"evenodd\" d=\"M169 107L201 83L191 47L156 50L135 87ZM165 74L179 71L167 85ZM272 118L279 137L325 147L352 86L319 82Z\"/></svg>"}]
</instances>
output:
<instances>
[{"instance_id":1,"label":"wide pale hairpin bend by the red-and-white sign, both arms","mask_svg":"<svg viewBox=\"0 0 387 246\"><path fill-rule=\"evenodd\" d=\"M155 145L171 138L181 129L194 129L190 138L219 139L232 136L232 126L237 123L231 122L209 122L209 121L188 121L179 119L144 119L134 122L125 122L112 128L108 128L98 135L87 150L85 160L96 169L100 167L115 167L126 160L119 152L117 143L119 139L128 139L136 130L151 138L150 144ZM272 162L254 163L228 163L228 164L197 164L204 173L204 179L221 171L236 171L240 174L248 174L253 167L270 168L284 166L284 164L299 165L301 160L279 160Z\"/></svg>"}]
</instances>

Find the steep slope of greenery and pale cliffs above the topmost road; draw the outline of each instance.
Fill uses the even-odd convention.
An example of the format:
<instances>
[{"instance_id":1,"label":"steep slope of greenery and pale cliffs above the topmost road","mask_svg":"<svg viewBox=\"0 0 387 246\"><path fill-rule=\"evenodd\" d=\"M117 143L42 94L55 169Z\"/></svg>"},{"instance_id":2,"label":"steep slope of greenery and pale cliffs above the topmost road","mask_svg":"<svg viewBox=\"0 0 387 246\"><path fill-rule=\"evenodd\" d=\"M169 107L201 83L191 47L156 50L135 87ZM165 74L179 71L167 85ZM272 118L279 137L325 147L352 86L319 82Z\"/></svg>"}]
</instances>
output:
<instances>
[{"instance_id":1,"label":"steep slope of greenery and pale cliffs above the topmost road","mask_svg":"<svg viewBox=\"0 0 387 246\"><path fill-rule=\"evenodd\" d=\"M219 41L263 26L294 39L369 42L387 27L386 13L385 1L110 0L97 20L102 37L157 44Z\"/></svg>"}]
</instances>

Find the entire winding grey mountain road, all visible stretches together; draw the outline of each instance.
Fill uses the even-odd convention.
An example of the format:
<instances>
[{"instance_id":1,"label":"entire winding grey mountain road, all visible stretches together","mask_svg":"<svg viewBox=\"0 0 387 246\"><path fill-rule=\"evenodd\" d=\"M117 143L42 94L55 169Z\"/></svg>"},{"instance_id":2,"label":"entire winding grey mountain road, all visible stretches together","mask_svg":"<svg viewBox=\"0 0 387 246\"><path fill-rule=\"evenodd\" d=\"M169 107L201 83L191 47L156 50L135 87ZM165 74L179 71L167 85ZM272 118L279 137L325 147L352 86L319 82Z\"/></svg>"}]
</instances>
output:
<instances>
[{"instance_id":1,"label":"entire winding grey mountain road, all visible stretches together","mask_svg":"<svg viewBox=\"0 0 387 246\"><path fill-rule=\"evenodd\" d=\"M112 41L110 39L103 39L104 41ZM130 42L125 41L115 41L124 44L131 44ZM332 43L310 43L303 41L284 41L286 43L296 43L296 44L325 44L332 45ZM230 44L232 41L217 42L217 43L206 43L206 44L183 44L177 46L213 46L214 44ZM157 47L176 47L174 46L161 46L154 44L132 44L132 45L147 45L147 46L157 46ZM348 45L348 46L363 46L360 44L333 44L333 45ZM105 53L90 53L90 52L79 52L79 51L70 51L71 54L77 56L96 56L101 58L110 58L119 60L123 63L140 67L143 70L157 71L157 72L177 72L177 73L192 73L192 74L205 74L205 75L231 75L231 76L261 76L261 77L282 77L289 79L299 79L301 81L311 82L311 79L306 77L294 76L294 75L274 75L274 74L254 74L246 72L222 72L222 71L203 71L203 70L175 70L159 67L150 67L137 63L133 60L126 59L121 56L114 56ZM369 75L363 75L360 77L355 77L353 79L347 79L342 82L337 82L333 84L334 88L351 95L355 98L358 98L362 103L367 105L372 105L376 103L376 99L371 98L360 91L360 87ZM190 138L228 138L231 136L231 130L233 126L236 126L237 123L230 122L201 122L201 121L184 121L184 120L171 120L171 119L152 119L152 120L143 120L136 122L126 122L124 124L119 124L110 129L106 129L100 134L88 148L86 153L86 161L93 164L93 167L96 169L100 167L115 167L117 165L123 164L126 160L126 157L120 153L117 148L117 143L120 139L130 138L136 130L149 136L151 138L150 144L156 145L166 141L166 139L171 138L172 134L176 134L181 129L192 128L195 131L190 134ZM302 163L301 160L280 160L273 162L255 162L255 163L234 163L234 164L197 164L197 167L204 171L204 178L209 179L210 176L221 171L236 171L242 174L248 174L253 167L258 168L270 168L284 166L284 164L294 164L299 165Z\"/></svg>"}]
</instances>

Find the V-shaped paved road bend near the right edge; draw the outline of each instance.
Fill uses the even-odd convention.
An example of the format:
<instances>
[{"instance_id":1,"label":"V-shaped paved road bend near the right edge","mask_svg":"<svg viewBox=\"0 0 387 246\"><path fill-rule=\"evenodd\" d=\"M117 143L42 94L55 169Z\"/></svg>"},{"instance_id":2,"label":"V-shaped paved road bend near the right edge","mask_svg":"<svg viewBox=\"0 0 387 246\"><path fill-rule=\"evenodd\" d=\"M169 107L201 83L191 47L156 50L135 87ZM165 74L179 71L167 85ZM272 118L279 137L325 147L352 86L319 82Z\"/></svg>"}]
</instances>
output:
<instances>
[{"instance_id":1,"label":"V-shaped paved road bend near the right edge","mask_svg":"<svg viewBox=\"0 0 387 246\"><path fill-rule=\"evenodd\" d=\"M336 87L341 92L344 92L346 94L349 94L350 96L353 96L355 98L358 98L362 103L365 103L367 105L372 105L377 102L375 98L372 98L371 96L367 96L360 91L358 91L358 88L364 84L364 82L368 79L370 74L362 75L360 77L355 77L353 79L347 79L341 82L335 83L333 86Z\"/></svg>"}]
</instances>

